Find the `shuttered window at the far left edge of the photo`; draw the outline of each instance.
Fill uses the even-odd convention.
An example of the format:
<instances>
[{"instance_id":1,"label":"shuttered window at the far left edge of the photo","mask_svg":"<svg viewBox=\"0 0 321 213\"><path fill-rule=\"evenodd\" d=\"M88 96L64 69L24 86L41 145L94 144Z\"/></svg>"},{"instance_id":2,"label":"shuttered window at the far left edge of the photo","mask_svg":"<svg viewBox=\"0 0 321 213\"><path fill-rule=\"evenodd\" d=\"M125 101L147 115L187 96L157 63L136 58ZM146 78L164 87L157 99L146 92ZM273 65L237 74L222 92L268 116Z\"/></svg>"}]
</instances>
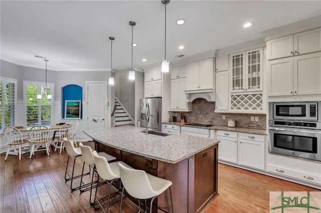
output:
<instances>
[{"instance_id":1,"label":"shuttered window at the far left edge of the photo","mask_svg":"<svg viewBox=\"0 0 321 213\"><path fill-rule=\"evenodd\" d=\"M17 80L0 77L0 131L16 121Z\"/></svg>"}]
</instances>

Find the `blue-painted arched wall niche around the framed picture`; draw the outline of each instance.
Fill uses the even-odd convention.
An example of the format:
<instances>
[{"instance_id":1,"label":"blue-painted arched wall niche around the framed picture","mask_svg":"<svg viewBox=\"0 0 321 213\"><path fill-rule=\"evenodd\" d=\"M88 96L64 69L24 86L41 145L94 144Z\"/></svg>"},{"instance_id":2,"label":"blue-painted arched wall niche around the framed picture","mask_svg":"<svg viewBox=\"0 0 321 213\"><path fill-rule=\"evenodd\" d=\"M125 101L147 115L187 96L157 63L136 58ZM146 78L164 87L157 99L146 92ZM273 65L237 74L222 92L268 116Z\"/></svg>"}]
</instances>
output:
<instances>
[{"instance_id":1,"label":"blue-painted arched wall niche around the framed picture","mask_svg":"<svg viewBox=\"0 0 321 213\"><path fill-rule=\"evenodd\" d=\"M66 100L80 100L80 104L82 104L82 87L76 84L65 85L61 88L62 92L62 109L61 114L62 118L65 119L65 104ZM80 110L80 119L82 119L82 107Z\"/></svg>"}]
</instances>

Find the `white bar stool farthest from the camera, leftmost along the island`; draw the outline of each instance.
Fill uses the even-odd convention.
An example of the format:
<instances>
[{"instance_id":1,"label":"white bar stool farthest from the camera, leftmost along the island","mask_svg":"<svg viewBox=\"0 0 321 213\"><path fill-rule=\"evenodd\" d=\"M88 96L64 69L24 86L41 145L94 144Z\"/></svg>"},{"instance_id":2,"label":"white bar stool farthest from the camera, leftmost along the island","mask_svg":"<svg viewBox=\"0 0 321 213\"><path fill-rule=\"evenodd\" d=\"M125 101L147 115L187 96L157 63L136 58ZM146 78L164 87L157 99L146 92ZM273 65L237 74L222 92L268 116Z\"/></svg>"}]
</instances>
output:
<instances>
[{"instance_id":1,"label":"white bar stool farthest from the camera, leftmost along the island","mask_svg":"<svg viewBox=\"0 0 321 213\"><path fill-rule=\"evenodd\" d=\"M80 147L74 147L73 142L70 139L67 139L66 137L64 138L64 143L65 143L66 151L68 153L66 171L65 171L65 180L66 181L71 180L70 189L71 189L71 191L74 191L74 190L79 189L79 187L72 186L73 179L81 177L81 174L74 176L76 158L81 156L81 149L80 149ZM69 165L69 158L70 157L74 157L74 163L73 163L71 175L68 173L68 165ZM87 175L87 174L90 174L90 167L89 167L89 172L87 172L83 175Z\"/></svg>"}]
</instances>

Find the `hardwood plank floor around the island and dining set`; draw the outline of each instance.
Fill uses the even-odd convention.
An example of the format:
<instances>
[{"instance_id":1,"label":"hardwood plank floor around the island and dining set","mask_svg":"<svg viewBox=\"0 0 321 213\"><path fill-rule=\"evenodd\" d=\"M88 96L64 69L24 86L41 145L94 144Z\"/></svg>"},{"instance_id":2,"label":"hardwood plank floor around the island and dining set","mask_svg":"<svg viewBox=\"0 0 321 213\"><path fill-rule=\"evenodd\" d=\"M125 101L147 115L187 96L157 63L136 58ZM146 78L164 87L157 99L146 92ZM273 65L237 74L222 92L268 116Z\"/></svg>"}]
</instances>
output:
<instances>
[{"instance_id":1,"label":"hardwood plank floor around the island and dining set","mask_svg":"<svg viewBox=\"0 0 321 213\"><path fill-rule=\"evenodd\" d=\"M88 142L87 144L93 145ZM70 191L70 181L65 182L64 172L68 154L63 150L28 153L18 156L0 155L0 213L4 212L102 212L90 206L89 191ZM82 159L78 157L76 170L81 171ZM89 180L89 176L86 177ZM75 182L75 186L79 182ZM100 195L105 193L102 186ZM204 211L210 212L269 212L269 191L320 191L316 188L281 180L252 171L219 163L219 195ZM137 212L127 198L122 212ZM111 204L109 212L118 212L119 202ZM175 210L175 209L174 209Z\"/></svg>"}]
</instances>

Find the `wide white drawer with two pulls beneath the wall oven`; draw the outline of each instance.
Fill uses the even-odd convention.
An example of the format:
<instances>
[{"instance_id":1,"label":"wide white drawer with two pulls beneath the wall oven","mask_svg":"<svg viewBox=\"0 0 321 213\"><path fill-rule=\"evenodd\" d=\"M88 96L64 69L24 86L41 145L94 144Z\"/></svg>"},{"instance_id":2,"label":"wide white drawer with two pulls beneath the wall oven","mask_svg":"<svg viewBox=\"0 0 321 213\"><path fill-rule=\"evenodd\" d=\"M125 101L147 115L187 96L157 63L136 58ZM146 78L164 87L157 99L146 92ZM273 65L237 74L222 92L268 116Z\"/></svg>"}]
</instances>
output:
<instances>
[{"instance_id":1,"label":"wide white drawer with two pulls beneath the wall oven","mask_svg":"<svg viewBox=\"0 0 321 213\"><path fill-rule=\"evenodd\" d=\"M302 171L297 171L294 169L289 169L281 166L276 166L276 165L267 165L268 171L271 171L273 173L277 173L280 175L285 175L289 177L294 177L300 180L304 180L307 182L313 182L317 184L321 184L321 176L320 175L315 175L307 172L302 172Z\"/></svg>"}]
</instances>

